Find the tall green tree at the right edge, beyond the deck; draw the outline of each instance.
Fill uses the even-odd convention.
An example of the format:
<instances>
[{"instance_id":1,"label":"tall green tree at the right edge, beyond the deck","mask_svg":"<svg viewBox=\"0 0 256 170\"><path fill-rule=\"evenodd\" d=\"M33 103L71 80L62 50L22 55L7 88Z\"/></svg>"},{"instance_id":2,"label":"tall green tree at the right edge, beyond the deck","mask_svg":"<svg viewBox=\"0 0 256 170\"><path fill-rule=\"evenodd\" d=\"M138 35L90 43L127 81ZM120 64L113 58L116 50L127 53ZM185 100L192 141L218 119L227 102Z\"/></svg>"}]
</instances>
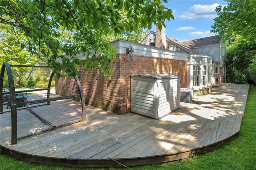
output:
<instances>
[{"instance_id":1,"label":"tall green tree at the right edge, beyond the deck","mask_svg":"<svg viewBox=\"0 0 256 170\"><path fill-rule=\"evenodd\" d=\"M256 57L256 1L226 0L228 6L216 8L212 32L218 32L226 41L227 77L231 81L244 81L246 73L253 74ZM256 82L255 82L256 83Z\"/></svg>"}]
</instances>

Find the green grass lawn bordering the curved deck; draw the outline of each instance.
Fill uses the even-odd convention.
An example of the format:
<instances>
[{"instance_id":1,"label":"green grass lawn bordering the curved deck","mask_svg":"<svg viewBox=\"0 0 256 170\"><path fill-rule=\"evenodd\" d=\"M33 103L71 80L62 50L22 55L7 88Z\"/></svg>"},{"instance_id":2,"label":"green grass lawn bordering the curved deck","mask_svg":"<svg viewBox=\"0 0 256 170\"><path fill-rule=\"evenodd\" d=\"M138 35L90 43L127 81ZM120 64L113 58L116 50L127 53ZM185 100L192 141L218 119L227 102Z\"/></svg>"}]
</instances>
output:
<instances>
[{"instance_id":1,"label":"green grass lawn bordering the curved deck","mask_svg":"<svg viewBox=\"0 0 256 170\"><path fill-rule=\"evenodd\" d=\"M198 170L198 169L230 169L256 170L256 87L250 87L240 136L217 150L194 156L183 161L163 164L134 166L133 170ZM0 154L0 170L71 170L57 166L42 166L26 163L10 156ZM80 170L128 169L128 168L79 168Z\"/></svg>"}]
</instances>

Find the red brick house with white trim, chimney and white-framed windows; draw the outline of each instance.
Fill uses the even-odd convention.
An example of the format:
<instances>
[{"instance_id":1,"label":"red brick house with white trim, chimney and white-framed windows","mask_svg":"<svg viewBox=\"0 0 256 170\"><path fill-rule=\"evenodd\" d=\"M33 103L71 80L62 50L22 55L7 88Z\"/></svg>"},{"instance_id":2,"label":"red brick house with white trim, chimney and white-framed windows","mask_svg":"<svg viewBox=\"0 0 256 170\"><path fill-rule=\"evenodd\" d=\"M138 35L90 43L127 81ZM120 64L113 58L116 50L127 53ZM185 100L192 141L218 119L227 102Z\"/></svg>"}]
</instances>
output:
<instances>
[{"instance_id":1,"label":"red brick house with white trim, chimney and white-framed windows","mask_svg":"<svg viewBox=\"0 0 256 170\"><path fill-rule=\"evenodd\" d=\"M210 89L211 78L208 78L210 76L208 67L212 65L210 55L203 55L188 47L185 48L188 53L166 49L165 29L159 33L158 31L156 47L122 39L113 41L112 45L117 50L116 61L112 62L113 72L108 77L96 70L86 72L84 68L80 68L78 78L82 84L86 104L118 114L126 113L126 108L130 111L130 75L132 74L172 74L181 76L181 88L198 85L198 89L201 90L200 84L204 84L204 87ZM129 45L133 47L134 57L126 54ZM86 59L82 55L76 57ZM194 66L198 70L193 70ZM75 93L78 93L78 89L74 78L56 80L56 94L66 96Z\"/></svg>"}]
</instances>

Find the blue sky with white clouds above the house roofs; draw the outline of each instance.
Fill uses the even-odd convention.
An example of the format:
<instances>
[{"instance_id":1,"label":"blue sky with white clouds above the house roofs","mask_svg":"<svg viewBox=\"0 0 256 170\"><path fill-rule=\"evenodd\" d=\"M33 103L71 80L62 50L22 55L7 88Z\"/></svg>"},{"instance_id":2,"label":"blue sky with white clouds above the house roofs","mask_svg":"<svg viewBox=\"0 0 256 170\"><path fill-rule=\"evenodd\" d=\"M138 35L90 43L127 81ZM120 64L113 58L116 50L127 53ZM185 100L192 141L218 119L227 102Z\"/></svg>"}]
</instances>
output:
<instances>
[{"instance_id":1,"label":"blue sky with white clouds above the house roofs","mask_svg":"<svg viewBox=\"0 0 256 170\"><path fill-rule=\"evenodd\" d=\"M166 20L166 36L178 41L187 41L215 35L210 33L216 6L228 3L223 0L168 0L163 3L172 9L174 20ZM152 26L156 31L156 26Z\"/></svg>"}]
</instances>

